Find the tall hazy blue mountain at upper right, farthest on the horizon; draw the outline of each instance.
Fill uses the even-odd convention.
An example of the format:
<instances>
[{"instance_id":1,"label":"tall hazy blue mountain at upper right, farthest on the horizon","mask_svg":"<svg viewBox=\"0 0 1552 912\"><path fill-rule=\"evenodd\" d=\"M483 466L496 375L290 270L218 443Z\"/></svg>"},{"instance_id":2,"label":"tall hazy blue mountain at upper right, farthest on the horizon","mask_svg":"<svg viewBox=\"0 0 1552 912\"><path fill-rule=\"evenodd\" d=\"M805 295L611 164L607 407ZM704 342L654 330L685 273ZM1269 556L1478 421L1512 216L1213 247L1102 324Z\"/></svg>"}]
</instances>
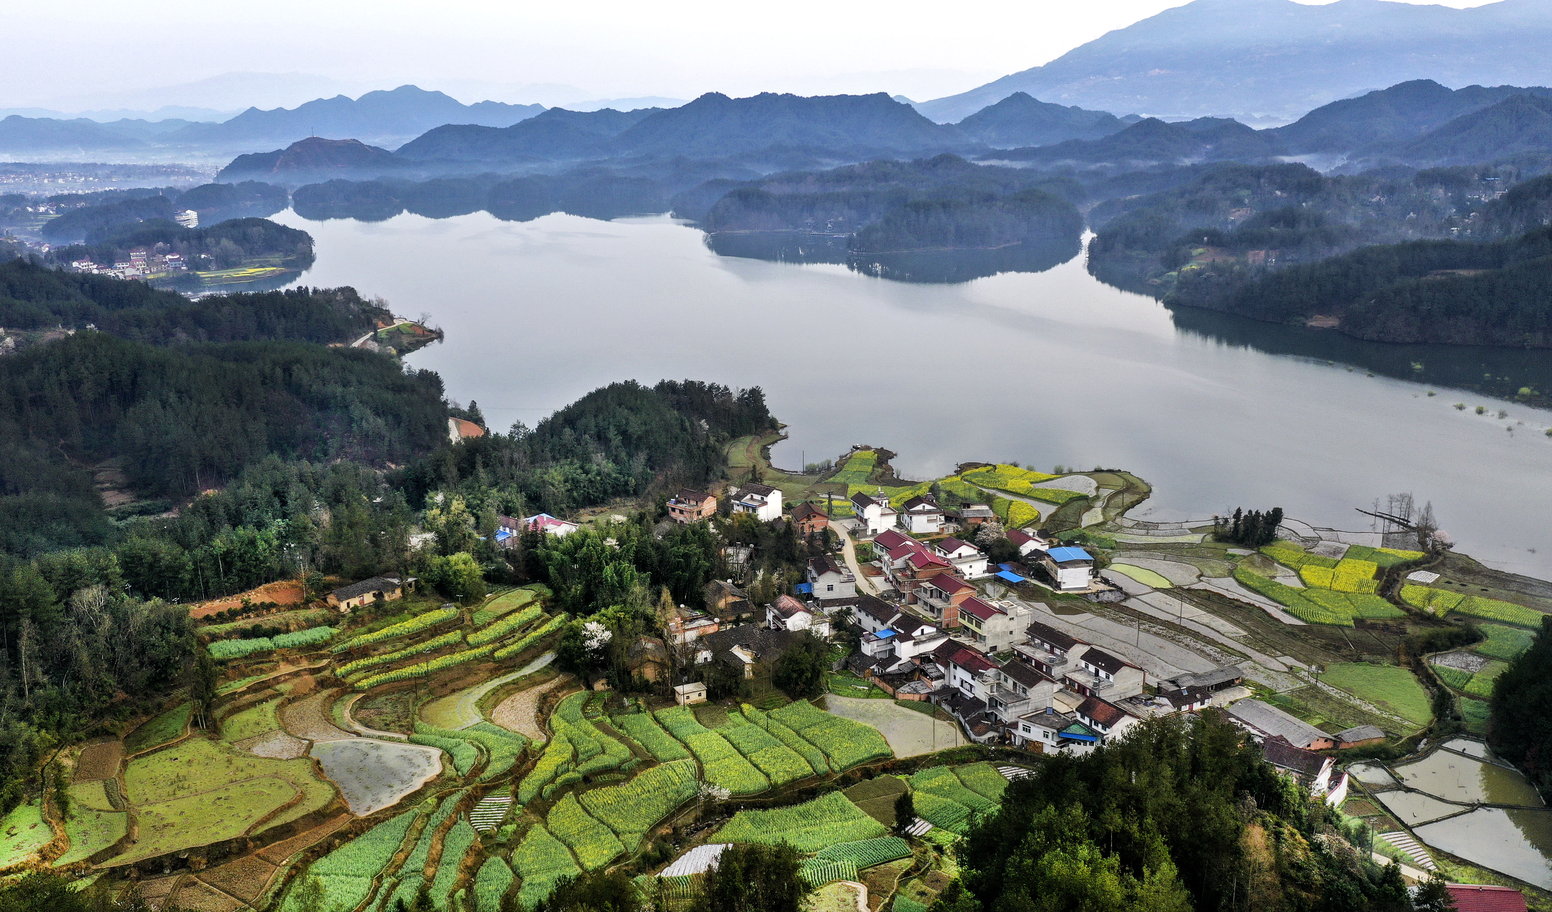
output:
<instances>
[{"instance_id":1,"label":"tall hazy blue mountain at upper right, farthest on the horizon","mask_svg":"<svg viewBox=\"0 0 1552 912\"><path fill-rule=\"evenodd\" d=\"M1026 92L1063 105L1155 116L1297 118L1380 85L1552 82L1552 3L1470 9L1389 0L1193 0L1110 31L1055 60L919 102L959 121Z\"/></svg>"}]
</instances>

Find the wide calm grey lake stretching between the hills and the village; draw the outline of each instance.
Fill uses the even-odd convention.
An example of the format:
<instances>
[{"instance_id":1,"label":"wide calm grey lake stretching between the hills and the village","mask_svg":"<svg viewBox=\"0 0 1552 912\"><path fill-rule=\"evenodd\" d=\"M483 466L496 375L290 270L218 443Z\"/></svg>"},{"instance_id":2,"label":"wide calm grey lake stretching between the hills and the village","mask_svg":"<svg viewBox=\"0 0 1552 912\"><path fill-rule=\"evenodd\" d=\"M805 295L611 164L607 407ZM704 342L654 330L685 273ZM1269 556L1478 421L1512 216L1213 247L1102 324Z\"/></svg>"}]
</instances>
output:
<instances>
[{"instance_id":1,"label":"wide calm grey lake stretching between the hills and the village","mask_svg":"<svg viewBox=\"0 0 1552 912\"><path fill-rule=\"evenodd\" d=\"M719 256L666 216L275 220L317 242L301 282L430 313L447 341L411 363L492 428L531 427L613 380L759 385L788 425L773 453L788 468L852 444L897 451L911 478L964 461L1102 465L1153 484L1138 518L1280 506L1352 530L1370 527L1355 507L1409 490L1460 551L1552 577L1552 413L1504 399L1552 389L1549 352L1172 313L1099 282L1082 256L934 284Z\"/></svg>"}]
</instances>

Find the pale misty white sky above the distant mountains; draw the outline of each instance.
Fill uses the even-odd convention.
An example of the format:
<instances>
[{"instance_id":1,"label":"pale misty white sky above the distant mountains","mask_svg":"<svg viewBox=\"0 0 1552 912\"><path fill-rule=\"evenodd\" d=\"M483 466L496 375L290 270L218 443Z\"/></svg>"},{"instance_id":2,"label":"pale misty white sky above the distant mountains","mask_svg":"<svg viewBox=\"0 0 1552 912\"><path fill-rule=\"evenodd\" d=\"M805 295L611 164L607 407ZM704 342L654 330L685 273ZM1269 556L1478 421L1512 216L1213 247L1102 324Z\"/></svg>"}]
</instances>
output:
<instances>
[{"instance_id":1,"label":"pale misty white sky above the distant mountains","mask_svg":"<svg viewBox=\"0 0 1552 912\"><path fill-rule=\"evenodd\" d=\"M1485 0L1443 0L1478 6ZM1026 70L1180 0L975 5L78 0L6 12L0 107L287 107L413 82L461 101L703 92L889 92L916 99ZM25 40L22 40L25 37ZM223 73L182 93L146 92ZM245 87L247 84L247 87ZM559 84L560 88L532 84ZM247 92L251 98L239 98Z\"/></svg>"}]
</instances>

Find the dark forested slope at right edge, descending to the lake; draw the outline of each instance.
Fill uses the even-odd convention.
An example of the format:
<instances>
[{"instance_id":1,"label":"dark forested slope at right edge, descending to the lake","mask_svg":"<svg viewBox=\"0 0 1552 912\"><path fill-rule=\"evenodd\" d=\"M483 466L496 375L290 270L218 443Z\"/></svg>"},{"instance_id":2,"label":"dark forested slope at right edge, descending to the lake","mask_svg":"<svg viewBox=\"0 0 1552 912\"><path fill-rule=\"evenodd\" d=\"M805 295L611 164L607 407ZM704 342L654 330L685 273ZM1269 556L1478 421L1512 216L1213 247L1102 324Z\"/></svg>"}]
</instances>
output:
<instances>
[{"instance_id":1,"label":"dark forested slope at right edge, descending to the lake","mask_svg":"<svg viewBox=\"0 0 1552 912\"><path fill-rule=\"evenodd\" d=\"M1183 271L1167 302L1304 323L1330 316L1358 338L1552 347L1552 228L1515 240L1417 240L1356 250L1231 284Z\"/></svg>"}]
</instances>

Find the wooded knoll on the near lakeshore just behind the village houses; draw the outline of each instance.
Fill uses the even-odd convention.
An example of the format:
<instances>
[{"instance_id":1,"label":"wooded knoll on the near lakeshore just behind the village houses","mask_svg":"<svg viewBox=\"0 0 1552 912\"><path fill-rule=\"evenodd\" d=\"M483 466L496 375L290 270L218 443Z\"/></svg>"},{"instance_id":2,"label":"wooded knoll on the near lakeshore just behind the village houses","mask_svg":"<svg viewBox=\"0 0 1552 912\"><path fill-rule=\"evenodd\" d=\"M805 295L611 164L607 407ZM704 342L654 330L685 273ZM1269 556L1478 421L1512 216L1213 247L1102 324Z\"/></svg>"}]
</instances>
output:
<instances>
[{"instance_id":1,"label":"wooded knoll on the near lakeshore just behind the village houses","mask_svg":"<svg viewBox=\"0 0 1552 912\"><path fill-rule=\"evenodd\" d=\"M611 383L532 430L517 425L439 450L405 468L399 485L414 507L431 490L472 485L560 515L653 489L705 485L722 476L729 439L773 430L757 386Z\"/></svg>"}]
</instances>

